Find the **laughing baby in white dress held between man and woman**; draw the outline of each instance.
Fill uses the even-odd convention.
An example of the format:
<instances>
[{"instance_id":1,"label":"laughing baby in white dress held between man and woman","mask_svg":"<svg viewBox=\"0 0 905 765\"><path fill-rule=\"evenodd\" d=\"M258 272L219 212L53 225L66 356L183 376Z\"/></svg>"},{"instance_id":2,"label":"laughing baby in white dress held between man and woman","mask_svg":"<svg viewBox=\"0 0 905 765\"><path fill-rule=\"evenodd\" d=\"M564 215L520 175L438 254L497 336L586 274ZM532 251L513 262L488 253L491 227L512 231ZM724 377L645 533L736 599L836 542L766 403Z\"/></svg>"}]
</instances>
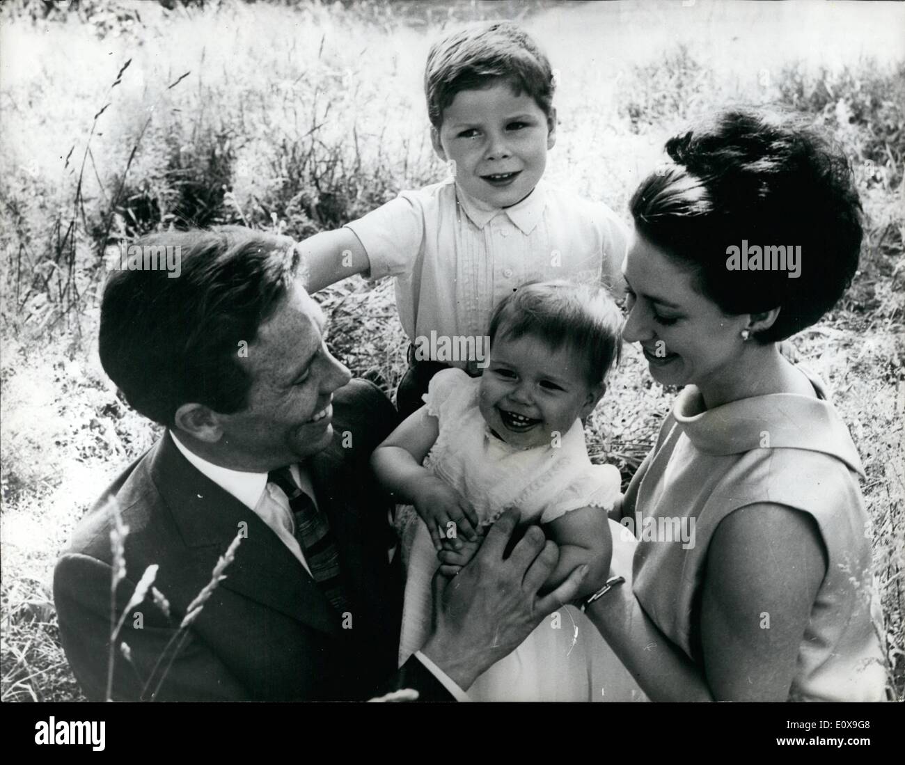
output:
<instances>
[{"instance_id":1,"label":"laughing baby in white dress held between man and woman","mask_svg":"<svg viewBox=\"0 0 905 765\"><path fill-rule=\"evenodd\" d=\"M401 660L426 634L437 567L456 574L506 508L518 508L524 521L539 522L557 542L548 588L583 564L589 569L580 595L604 584L612 553L606 513L620 496L620 479L614 466L591 464L582 418L605 392L621 327L622 315L603 288L568 282L519 287L493 311L490 364L481 378L461 369L439 372L425 406L377 447L372 465L378 481L417 513L409 511L414 522L403 531ZM565 614L572 620L565 630L538 626L470 695L593 698L593 678L615 659L579 612Z\"/></svg>"}]
</instances>

